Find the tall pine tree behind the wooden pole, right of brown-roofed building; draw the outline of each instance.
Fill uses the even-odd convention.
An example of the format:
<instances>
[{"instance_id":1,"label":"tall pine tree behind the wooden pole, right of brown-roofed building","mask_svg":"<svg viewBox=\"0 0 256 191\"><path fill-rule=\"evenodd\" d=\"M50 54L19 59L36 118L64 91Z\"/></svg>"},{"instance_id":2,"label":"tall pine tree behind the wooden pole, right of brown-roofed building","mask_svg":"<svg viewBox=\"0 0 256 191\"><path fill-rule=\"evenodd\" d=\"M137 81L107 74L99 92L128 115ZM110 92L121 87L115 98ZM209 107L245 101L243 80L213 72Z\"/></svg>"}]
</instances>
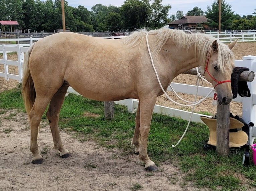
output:
<instances>
[{"instance_id":1,"label":"tall pine tree behind the wooden pole, right of brown-roofed building","mask_svg":"<svg viewBox=\"0 0 256 191\"><path fill-rule=\"evenodd\" d=\"M212 8L207 6L206 17L208 25L212 29L218 29L219 26L219 0L215 0L212 4ZM229 30L232 20L235 18L234 11L231 10L231 6L225 3L225 0L221 0L221 30Z\"/></svg>"}]
</instances>

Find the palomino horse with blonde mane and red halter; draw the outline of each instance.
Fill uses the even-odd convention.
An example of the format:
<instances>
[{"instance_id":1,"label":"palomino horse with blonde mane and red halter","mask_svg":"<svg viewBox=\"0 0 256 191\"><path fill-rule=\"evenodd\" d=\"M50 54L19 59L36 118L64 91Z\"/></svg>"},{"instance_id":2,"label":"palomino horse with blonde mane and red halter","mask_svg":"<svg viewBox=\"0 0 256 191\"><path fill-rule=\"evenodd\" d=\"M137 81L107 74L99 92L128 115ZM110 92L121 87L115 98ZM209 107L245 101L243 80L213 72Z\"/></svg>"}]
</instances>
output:
<instances>
[{"instance_id":1,"label":"palomino horse with blonde mane and red halter","mask_svg":"<svg viewBox=\"0 0 256 191\"><path fill-rule=\"evenodd\" d=\"M60 151L60 157L70 156L60 140L58 118L71 86L81 95L99 101L139 99L131 142L138 158L145 162L145 169L157 170L147 154L147 139L156 98L163 92L151 65L146 38L164 90L178 74L201 66L206 69L206 79L215 86L219 103L231 101L231 49L236 42L225 45L204 34L164 28L137 31L119 40L71 32L50 35L29 48L23 65L22 95L30 120L32 163L43 161L37 134L48 103L46 116L54 148Z\"/></svg>"}]
</instances>

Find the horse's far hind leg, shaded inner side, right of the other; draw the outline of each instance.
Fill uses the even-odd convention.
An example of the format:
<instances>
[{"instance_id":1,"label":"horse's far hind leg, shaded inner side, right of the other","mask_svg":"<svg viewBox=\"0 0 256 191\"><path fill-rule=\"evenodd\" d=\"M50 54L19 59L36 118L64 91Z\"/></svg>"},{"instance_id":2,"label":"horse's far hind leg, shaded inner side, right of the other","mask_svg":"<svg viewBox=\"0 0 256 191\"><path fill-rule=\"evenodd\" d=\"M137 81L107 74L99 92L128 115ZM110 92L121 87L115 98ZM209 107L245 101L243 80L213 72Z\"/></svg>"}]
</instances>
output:
<instances>
[{"instance_id":1,"label":"horse's far hind leg, shaded inner side, right of the other","mask_svg":"<svg viewBox=\"0 0 256 191\"><path fill-rule=\"evenodd\" d=\"M52 134L53 143L54 143L53 148L56 150L59 150L60 152L59 156L62 158L67 158L70 156L69 151L66 148L64 148L62 145L60 135L59 135L59 128L58 128L59 111L63 104L68 88L69 88L69 85L64 83L58 89L58 91L51 98L49 108L46 112L46 116L50 124L51 134Z\"/></svg>"}]
</instances>

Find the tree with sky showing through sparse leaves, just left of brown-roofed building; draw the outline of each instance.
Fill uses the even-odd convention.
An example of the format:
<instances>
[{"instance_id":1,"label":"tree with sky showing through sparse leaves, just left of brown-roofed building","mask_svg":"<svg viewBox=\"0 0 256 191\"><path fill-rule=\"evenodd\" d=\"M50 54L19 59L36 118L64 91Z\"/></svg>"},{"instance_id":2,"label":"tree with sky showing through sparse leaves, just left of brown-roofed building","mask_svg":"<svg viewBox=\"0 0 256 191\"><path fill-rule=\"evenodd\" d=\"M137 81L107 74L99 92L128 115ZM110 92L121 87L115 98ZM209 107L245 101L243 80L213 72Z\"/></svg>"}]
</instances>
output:
<instances>
[{"instance_id":1,"label":"tree with sky showing through sparse leaves, just left of brown-roofed building","mask_svg":"<svg viewBox=\"0 0 256 191\"><path fill-rule=\"evenodd\" d=\"M154 2L150 6L151 14L148 26L150 26L151 28L160 28L168 22L167 15L171 6L161 5L161 3L162 0L154 0Z\"/></svg>"}]
</instances>

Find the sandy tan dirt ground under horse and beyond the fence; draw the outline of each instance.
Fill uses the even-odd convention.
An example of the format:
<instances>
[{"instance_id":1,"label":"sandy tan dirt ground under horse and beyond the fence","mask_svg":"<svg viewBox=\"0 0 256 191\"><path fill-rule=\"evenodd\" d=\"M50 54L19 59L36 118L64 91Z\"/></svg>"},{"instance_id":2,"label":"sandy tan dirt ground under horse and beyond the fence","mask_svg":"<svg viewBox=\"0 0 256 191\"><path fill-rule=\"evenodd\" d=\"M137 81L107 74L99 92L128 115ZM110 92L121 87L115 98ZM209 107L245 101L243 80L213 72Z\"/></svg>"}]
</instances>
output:
<instances>
[{"instance_id":1,"label":"sandy tan dirt ground under horse and beyond the fence","mask_svg":"<svg viewBox=\"0 0 256 191\"><path fill-rule=\"evenodd\" d=\"M234 48L234 53L237 60L247 55L256 56L256 42L238 43ZM9 60L12 60L11 56ZM12 74L17 71L14 67L9 67L9 69ZM1 71L3 68L0 66ZM192 75L179 75L174 80L174 82L193 85L195 81L196 77ZM4 78L0 78L0 92L11 89L17 84L17 81L5 81ZM183 95L183 97L190 96ZM157 104L173 106L166 100L165 97L160 96ZM216 107L211 106L211 102L212 99L204 101L196 110L214 114ZM189 108L183 109L189 110ZM233 114L241 115L241 104L231 103L230 110ZM10 114L14 116L10 118ZM26 114L15 110L4 113L0 110L1 191L125 191L132 190L135 183L142 185L142 190L148 191L199 190L193 186L193 182L186 182L184 174L171 162L161 163L158 172L149 174L144 170L144 166L138 161L136 155L124 157L117 149L105 149L91 141L79 142L77 137L70 132L61 131L60 134L63 145L71 152L71 157L60 158L58 151L51 149L53 141L49 125L41 124L41 127L38 145L39 151L45 151L42 154L44 162L35 165L31 163L30 131ZM6 129L10 132L6 133Z\"/></svg>"}]
</instances>

